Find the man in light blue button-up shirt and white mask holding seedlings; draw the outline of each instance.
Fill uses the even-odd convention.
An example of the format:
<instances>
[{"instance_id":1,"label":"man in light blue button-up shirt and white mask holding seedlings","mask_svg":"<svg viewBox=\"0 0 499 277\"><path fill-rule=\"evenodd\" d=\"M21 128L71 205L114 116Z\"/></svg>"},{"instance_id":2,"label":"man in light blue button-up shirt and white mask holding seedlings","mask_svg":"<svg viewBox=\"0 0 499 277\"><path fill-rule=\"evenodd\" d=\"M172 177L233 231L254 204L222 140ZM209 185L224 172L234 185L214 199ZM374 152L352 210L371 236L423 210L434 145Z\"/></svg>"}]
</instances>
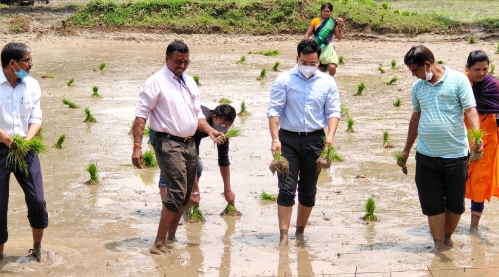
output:
<instances>
[{"instance_id":1,"label":"man in light blue button-up shirt and white mask holding seedlings","mask_svg":"<svg viewBox=\"0 0 499 277\"><path fill-rule=\"evenodd\" d=\"M289 174L277 174L279 245L288 244L288 229L298 190L296 239L303 232L315 205L316 161L324 147L333 144L340 119L340 100L333 77L317 71L320 46L312 39L298 44L297 65L275 78L267 111L273 155L278 151L289 161ZM324 128L328 127L327 137ZM280 127L280 129L279 129ZM325 138L325 143L324 139Z\"/></svg>"}]
</instances>

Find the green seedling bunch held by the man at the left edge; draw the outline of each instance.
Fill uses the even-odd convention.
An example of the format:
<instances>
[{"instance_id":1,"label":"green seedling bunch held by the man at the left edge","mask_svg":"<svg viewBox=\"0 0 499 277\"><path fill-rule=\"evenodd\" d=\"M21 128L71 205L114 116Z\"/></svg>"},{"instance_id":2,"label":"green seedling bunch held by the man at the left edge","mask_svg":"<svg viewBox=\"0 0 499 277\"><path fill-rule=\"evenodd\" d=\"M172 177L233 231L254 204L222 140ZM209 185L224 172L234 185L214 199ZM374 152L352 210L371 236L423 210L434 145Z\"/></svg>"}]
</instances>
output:
<instances>
[{"instance_id":1,"label":"green seedling bunch held by the man at the left edge","mask_svg":"<svg viewBox=\"0 0 499 277\"><path fill-rule=\"evenodd\" d=\"M41 139L32 138L26 140L19 135L14 135L8 145L7 165L12 165L15 170L24 173L26 177L29 175L26 158L29 151L34 151L36 154L45 154L48 152L47 146L43 144Z\"/></svg>"}]
</instances>

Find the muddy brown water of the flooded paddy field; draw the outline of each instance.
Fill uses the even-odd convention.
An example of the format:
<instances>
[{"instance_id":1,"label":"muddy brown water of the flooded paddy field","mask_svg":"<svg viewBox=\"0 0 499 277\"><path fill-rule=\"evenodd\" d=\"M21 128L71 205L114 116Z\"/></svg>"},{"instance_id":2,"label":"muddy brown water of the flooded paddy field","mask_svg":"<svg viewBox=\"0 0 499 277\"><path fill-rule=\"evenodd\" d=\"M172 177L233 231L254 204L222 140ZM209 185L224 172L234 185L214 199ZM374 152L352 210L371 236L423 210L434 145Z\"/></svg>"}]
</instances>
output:
<instances>
[{"instance_id":1,"label":"muddy brown water of the flooded paddy field","mask_svg":"<svg viewBox=\"0 0 499 277\"><path fill-rule=\"evenodd\" d=\"M98 36L102 38L98 39ZM157 169L136 169L131 164L132 138L127 134L138 91L144 81L163 66L166 45L183 38L190 46L190 75L199 75L202 102L209 107L218 99L232 99L239 110L245 100L246 119L236 126L245 137L231 142L232 186L239 218L219 213L225 206L216 149L203 141L201 157L201 207L206 223L183 224L170 254L153 256L152 245L160 213ZM335 137L345 162L321 174L316 206L310 216L306 241L297 245L291 236L287 249L277 248L275 203L258 199L260 191L276 193L276 178L268 170L270 136L265 117L269 88L278 72L295 63L299 37L161 36L140 34L92 34L75 37L6 37L32 47L31 74L42 87L44 139L55 142L66 134L63 149L42 156L45 197L50 225L43 239L41 263L25 254L31 248L23 194L13 180L10 189L9 241L0 262L5 276L496 276L499 250L498 201L486 206L478 236L468 234L470 212L464 214L454 236L455 247L439 255L430 253L433 242L426 217L421 214L414 184L414 158L406 177L395 165L392 153L403 147L411 115L410 88L415 81L403 64L412 44L427 43L438 60L461 69L467 54L484 49L492 60L494 43L469 45L452 37L343 40L336 44L345 56L338 68L341 101L355 120L357 133L347 134L341 120ZM264 57L249 51L278 49L281 55ZM452 53L450 51L452 49ZM242 55L247 62L238 64ZM398 63L390 70L390 61ZM102 62L106 68L93 71ZM381 65L387 73L377 71ZM257 81L262 68L267 78ZM45 73L55 79L42 79ZM391 77L399 80L386 85ZM75 78L71 87L65 85ZM362 96L352 96L357 85L367 85ZM102 99L90 98L92 86ZM89 107L98 120L82 123L83 109L61 104L65 97ZM392 103L402 99L396 108ZM382 147L388 130L396 148ZM143 140L143 148L150 146ZM414 154L414 153L413 153ZM89 186L85 171L97 161L101 184ZM356 178L358 174L366 178ZM364 202L376 196L379 222L366 224ZM469 206L469 201L467 201ZM293 214L292 222L295 220ZM290 233L293 233L293 228ZM463 268L467 268L466 271Z\"/></svg>"}]
</instances>

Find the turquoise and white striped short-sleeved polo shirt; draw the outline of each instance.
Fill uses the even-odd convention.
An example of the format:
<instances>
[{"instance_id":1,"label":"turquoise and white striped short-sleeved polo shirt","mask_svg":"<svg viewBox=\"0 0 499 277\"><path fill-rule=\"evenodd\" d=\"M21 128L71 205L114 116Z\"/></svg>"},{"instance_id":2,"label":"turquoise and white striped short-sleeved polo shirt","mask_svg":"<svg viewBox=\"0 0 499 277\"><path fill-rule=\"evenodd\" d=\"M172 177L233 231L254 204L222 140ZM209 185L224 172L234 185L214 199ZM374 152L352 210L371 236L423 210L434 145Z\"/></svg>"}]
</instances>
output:
<instances>
[{"instance_id":1,"label":"turquoise and white striped short-sleeved polo shirt","mask_svg":"<svg viewBox=\"0 0 499 277\"><path fill-rule=\"evenodd\" d=\"M421 111L416 150L431 157L468 155L464 110L477 106L470 81L461 72L444 66L442 78L432 85L418 80L412 87L412 105Z\"/></svg>"}]
</instances>

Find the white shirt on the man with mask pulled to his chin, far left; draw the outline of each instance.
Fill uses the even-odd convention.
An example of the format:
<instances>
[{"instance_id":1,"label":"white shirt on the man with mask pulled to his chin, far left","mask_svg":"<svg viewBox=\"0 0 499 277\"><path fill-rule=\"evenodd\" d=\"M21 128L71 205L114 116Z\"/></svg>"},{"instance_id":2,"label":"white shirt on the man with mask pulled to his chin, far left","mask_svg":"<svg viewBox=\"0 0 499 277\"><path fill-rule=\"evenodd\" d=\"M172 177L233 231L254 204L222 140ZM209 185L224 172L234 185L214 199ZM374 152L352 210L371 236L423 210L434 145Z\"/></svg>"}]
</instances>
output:
<instances>
[{"instance_id":1,"label":"white shirt on the man with mask pulled to his chin, far left","mask_svg":"<svg viewBox=\"0 0 499 277\"><path fill-rule=\"evenodd\" d=\"M3 69L0 70L0 129L10 138L26 137L31 124L41 125L41 89L32 77L19 79L12 88Z\"/></svg>"}]
</instances>

